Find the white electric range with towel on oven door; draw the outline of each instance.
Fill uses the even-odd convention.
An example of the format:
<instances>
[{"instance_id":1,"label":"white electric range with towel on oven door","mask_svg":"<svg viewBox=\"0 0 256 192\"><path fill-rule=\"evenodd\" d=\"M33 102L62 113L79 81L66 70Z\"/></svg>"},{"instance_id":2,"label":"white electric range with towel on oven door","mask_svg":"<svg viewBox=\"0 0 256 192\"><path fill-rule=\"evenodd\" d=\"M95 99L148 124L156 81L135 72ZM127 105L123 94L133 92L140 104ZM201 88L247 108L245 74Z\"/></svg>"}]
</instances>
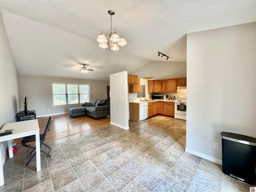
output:
<instances>
[{"instance_id":1,"label":"white electric range with towel on oven door","mask_svg":"<svg viewBox=\"0 0 256 192\"><path fill-rule=\"evenodd\" d=\"M186 120L187 96L180 95L178 101L174 102L174 118Z\"/></svg>"}]
</instances>

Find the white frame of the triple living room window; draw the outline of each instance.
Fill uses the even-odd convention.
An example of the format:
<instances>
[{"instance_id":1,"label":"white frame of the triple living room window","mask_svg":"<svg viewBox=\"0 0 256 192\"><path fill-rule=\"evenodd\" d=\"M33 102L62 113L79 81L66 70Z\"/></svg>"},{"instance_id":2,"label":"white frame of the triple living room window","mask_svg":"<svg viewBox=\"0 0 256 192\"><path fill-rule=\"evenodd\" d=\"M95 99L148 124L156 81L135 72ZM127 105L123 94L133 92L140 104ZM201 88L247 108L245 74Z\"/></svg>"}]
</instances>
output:
<instances>
[{"instance_id":1,"label":"white frame of the triple living room window","mask_svg":"<svg viewBox=\"0 0 256 192\"><path fill-rule=\"evenodd\" d=\"M54 84L64 84L65 85L66 104L64 104L64 105L54 105L54 95L57 95L57 94L53 94L53 85ZM71 95L71 94L68 94L68 85L77 85L77 89L78 89L78 103L77 104L68 104L68 95ZM90 84L87 84L87 83L52 82L51 83L52 107L72 106L72 105L79 105L79 104L81 104L81 102L80 102L80 85L87 85L87 86L89 86L89 88L88 88L88 95L89 95L89 102L90 102ZM85 94L85 93L82 93L82 94ZM64 95L64 94L62 94L62 95Z\"/></svg>"}]
</instances>

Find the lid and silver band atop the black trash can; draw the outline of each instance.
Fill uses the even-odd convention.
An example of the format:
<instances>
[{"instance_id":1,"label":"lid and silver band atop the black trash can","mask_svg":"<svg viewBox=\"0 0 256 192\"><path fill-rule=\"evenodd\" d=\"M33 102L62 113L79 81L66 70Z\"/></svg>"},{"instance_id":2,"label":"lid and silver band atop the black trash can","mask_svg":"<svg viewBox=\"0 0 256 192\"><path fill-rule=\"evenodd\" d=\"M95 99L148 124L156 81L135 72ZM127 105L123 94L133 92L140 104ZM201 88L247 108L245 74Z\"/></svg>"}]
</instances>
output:
<instances>
[{"instance_id":1,"label":"lid and silver band atop the black trash can","mask_svg":"<svg viewBox=\"0 0 256 192\"><path fill-rule=\"evenodd\" d=\"M229 132L221 132L220 135L222 139L243 143L246 145L256 146L256 138L254 137L249 137L246 135L240 135L240 134L229 133Z\"/></svg>"}]
</instances>

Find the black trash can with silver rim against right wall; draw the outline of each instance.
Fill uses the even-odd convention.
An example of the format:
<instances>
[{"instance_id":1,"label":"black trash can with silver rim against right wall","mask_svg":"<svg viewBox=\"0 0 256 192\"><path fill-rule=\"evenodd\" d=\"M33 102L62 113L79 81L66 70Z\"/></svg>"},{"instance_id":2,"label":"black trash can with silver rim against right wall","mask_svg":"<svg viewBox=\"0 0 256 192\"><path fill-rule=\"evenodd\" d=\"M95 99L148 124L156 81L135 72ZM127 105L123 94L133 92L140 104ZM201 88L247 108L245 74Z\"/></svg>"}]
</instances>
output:
<instances>
[{"instance_id":1,"label":"black trash can with silver rim against right wall","mask_svg":"<svg viewBox=\"0 0 256 192\"><path fill-rule=\"evenodd\" d=\"M239 181L256 184L256 138L221 132L222 172Z\"/></svg>"}]
</instances>

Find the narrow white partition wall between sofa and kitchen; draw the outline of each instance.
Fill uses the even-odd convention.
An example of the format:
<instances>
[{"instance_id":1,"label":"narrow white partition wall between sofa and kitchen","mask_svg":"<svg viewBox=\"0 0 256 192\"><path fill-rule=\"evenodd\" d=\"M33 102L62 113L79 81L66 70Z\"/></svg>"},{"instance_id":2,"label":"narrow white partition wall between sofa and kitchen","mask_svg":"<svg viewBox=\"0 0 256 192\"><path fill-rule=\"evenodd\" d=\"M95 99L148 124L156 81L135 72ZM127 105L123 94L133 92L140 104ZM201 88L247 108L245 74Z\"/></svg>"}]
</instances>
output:
<instances>
[{"instance_id":1,"label":"narrow white partition wall between sofa and kitchen","mask_svg":"<svg viewBox=\"0 0 256 192\"><path fill-rule=\"evenodd\" d=\"M127 71L110 75L110 124L129 129Z\"/></svg>"}]
</instances>

